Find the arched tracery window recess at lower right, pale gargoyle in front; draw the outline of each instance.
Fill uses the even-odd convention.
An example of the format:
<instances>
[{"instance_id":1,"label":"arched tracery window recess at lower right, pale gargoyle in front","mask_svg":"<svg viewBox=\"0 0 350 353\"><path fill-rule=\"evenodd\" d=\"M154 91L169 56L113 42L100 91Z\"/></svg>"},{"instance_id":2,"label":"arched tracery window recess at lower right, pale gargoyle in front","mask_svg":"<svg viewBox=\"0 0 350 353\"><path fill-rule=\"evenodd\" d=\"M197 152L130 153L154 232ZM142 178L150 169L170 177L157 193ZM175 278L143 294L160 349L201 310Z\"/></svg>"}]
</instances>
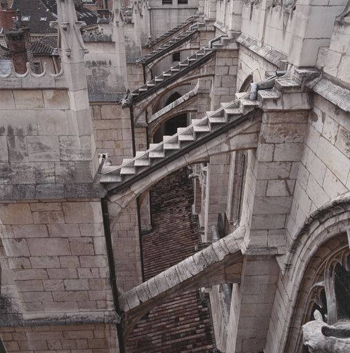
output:
<instances>
[{"instance_id":1,"label":"arched tracery window recess at lower right, pale gargoyle in front","mask_svg":"<svg viewBox=\"0 0 350 353\"><path fill-rule=\"evenodd\" d=\"M302 274L286 352L316 352L314 348L325 338L320 327L332 331L339 323L349 325L349 259L347 234L337 232L315 249L311 258L302 259L305 271L294 270Z\"/></svg>"}]
</instances>

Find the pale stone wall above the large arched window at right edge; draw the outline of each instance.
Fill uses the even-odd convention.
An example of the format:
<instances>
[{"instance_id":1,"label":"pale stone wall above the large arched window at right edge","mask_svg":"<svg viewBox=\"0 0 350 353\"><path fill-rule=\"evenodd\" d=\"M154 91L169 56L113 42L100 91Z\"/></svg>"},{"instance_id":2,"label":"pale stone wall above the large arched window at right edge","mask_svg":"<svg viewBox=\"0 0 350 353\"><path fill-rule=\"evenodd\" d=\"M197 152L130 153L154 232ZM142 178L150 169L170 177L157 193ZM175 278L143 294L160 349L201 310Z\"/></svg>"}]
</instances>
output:
<instances>
[{"instance_id":1,"label":"pale stone wall above the large arched window at right edge","mask_svg":"<svg viewBox=\"0 0 350 353\"><path fill-rule=\"evenodd\" d=\"M294 236L309 214L350 190L350 123L320 96L314 97L287 223Z\"/></svg>"}]
</instances>

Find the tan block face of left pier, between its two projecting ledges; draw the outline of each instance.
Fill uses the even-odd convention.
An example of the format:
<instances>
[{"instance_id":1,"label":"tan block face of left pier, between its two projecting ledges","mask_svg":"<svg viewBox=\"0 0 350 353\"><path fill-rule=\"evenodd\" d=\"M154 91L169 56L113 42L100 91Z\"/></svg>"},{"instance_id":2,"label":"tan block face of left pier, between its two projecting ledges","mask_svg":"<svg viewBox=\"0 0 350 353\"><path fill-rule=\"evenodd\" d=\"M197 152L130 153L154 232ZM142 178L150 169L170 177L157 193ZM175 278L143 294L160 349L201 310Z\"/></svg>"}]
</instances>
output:
<instances>
[{"instance_id":1,"label":"tan block face of left pier, between its two projecting ledges","mask_svg":"<svg viewBox=\"0 0 350 353\"><path fill-rule=\"evenodd\" d=\"M3 202L0 221L22 312L112 310L99 201Z\"/></svg>"}]
</instances>

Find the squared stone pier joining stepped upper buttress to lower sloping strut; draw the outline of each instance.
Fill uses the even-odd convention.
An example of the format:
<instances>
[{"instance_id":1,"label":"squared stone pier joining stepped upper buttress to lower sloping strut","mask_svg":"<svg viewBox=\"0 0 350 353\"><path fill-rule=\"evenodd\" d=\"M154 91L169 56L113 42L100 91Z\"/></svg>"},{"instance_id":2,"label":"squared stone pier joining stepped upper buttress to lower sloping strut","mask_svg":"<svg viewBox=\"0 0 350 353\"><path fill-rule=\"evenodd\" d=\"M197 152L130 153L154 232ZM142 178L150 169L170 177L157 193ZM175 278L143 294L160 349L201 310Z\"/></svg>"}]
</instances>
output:
<instances>
[{"instance_id":1,"label":"squared stone pier joining stepped upper buttress to lower sloping strut","mask_svg":"<svg viewBox=\"0 0 350 353\"><path fill-rule=\"evenodd\" d=\"M293 99L292 95L284 94L285 101ZM287 215L307 130L308 108L305 105L300 110L263 113L258 149L249 153L243 205L245 244L251 250L285 251Z\"/></svg>"}]
</instances>

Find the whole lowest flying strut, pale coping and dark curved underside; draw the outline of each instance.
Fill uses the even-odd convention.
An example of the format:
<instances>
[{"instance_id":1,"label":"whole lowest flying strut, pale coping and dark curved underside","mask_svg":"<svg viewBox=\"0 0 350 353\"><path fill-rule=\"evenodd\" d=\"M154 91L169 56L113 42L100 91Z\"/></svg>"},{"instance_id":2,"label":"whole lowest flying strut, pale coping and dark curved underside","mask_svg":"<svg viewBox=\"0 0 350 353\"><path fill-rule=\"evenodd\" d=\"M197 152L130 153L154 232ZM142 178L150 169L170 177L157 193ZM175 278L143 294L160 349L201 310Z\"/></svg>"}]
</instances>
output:
<instances>
[{"instance_id":1,"label":"whole lowest flying strut, pale coping and dark curved underside","mask_svg":"<svg viewBox=\"0 0 350 353\"><path fill-rule=\"evenodd\" d=\"M157 274L132 290L120 294L124 333L132 330L138 319L177 293L197 290L203 286L221 283L239 283L243 254L241 243L245 227L196 252L187 259Z\"/></svg>"}]
</instances>

